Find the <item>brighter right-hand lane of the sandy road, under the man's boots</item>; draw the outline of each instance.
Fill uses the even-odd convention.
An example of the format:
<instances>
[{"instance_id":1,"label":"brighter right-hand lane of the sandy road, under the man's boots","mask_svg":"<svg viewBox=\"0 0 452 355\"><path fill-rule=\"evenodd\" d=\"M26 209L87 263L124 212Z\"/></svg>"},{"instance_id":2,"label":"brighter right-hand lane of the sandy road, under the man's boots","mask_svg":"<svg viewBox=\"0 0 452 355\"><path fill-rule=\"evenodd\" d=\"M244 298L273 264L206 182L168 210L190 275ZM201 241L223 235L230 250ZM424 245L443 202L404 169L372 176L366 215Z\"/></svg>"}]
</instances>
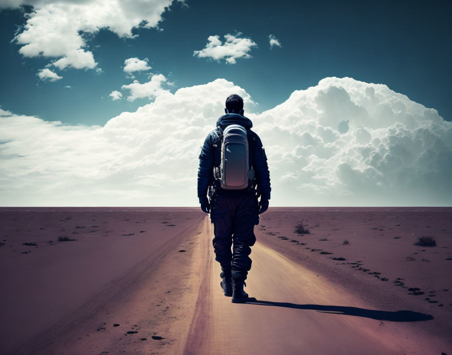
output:
<instances>
[{"instance_id":1,"label":"brighter right-hand lane of the sandy road, under the man's boots","mask_svg":"<svg viewBox=\"0 0 452 355\"><path fill-rule=\"evenodd\" d=\"M209 230L207 233L211 233ZM220 267L204 244L205 268L187 354L440 354L439 339L416 333L401 310L375 310L365 301L283 255L256 243L245 290L232 304L221 292Z\"/></svg>"}]
</instances>

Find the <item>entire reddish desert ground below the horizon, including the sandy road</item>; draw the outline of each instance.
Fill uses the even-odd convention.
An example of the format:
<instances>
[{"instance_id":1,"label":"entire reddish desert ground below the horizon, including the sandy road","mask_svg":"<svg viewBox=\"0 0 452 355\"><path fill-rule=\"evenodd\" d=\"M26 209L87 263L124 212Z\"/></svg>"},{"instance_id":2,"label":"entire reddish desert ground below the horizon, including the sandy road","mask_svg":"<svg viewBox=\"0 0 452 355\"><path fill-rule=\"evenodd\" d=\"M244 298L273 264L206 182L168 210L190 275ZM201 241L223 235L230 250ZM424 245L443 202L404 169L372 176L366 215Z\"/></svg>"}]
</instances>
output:
<instances>
[{"instance_id":1,"label":"entire reddish desert ground below the horizon, including the sandy road","mask_svg":"<svg viewBox=\"0 0 452 355\"><path fill-rule=\"evenodd\" d=\"M452 353L452 208L270 208L245 304L222 293L198 208L0 223L2 354Z\"/></svg>"}]
</instances>

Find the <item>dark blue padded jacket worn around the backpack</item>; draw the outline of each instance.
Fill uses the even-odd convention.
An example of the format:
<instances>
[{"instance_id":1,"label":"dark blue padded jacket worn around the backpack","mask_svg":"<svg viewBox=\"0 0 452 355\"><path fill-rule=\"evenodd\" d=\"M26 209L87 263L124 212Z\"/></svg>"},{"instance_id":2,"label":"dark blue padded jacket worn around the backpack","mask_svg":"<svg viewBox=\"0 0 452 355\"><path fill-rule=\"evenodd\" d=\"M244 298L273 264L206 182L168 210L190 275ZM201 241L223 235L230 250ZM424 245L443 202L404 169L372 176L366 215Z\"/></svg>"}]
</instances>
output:
<instances>
[{"instance_id":1,"label":"dark blue padded jacket worn around the backpack","mask_svg":"<svg viewBox=\"0 0 452 355\"><path fill-rule=\"evenodd\" d=\"M229 125L241 125L246 128L250 151L249 166L254 167L261 196L270 199L270 173L262 142L259 136L251 131L253 127L251 120L237 113L222 115L216 122L216 129L211 131L204 141L199 155L198 198L200 201L205 198L208 187L213 184L213 167L219 167L221 160L221 133Z\"/></svg>"}]
</instances>

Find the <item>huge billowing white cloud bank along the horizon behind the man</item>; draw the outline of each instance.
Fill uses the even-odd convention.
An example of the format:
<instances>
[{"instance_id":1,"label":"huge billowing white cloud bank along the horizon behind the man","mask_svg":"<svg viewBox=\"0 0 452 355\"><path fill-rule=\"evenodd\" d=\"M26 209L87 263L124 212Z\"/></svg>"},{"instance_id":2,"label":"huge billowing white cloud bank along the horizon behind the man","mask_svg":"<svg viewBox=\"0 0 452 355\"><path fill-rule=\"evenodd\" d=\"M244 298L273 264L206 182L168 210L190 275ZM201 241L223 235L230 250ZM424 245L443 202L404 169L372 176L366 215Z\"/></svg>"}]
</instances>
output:
<instances>
[{"instance_id":1,"label":"huge billowing white cloud bank along the horizon behind the man","mask_svg":"<svg viewBox=\"0 0 452 355\"><path fill-rule=\"evenodd\" d=\"M250 113L255 104L244 89L224 79L163 92L104 127L3 111L0 201L196 205L200 146L231 93L245 98L265 146L273 206L452 203L452 123L385 85L351 78L323 79L260 114Z\"/></svg>"}]
</instances>

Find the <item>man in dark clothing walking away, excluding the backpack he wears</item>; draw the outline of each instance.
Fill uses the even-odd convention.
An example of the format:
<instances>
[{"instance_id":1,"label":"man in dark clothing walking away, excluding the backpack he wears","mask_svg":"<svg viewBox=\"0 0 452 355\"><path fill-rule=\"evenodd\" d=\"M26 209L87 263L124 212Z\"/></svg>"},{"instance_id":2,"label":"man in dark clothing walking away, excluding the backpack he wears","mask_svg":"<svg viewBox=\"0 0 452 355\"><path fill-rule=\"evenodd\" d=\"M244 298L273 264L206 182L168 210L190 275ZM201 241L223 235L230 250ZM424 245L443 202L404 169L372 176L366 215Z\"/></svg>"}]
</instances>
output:
<instances>
[{"instance_id":1,"label":"man in dark clothing walking away, excluding the backpack he wears","mask_svg":"<svg viewBox=\"0 0 452 355\"><path fill-rule=\"evenodd\" d=\"M242 97L236 94L229 96L224 111L226 114L218 119L216 129L207 135L199 155L198 198L201 209L205 213L210 213L213 223L212 243L215 260L221 265L221 288L224 295L232 295L233 303L241 303L248 299L243 286L246 286L244 281L251 269L250 247L256 242L254 225L259 223L259 214L268 208L270 174L261 140L251 131L252 122L243 115ZM224 165L221 163L225 164L221 161L223 159L221 148L225 139L223 131L231 125L241 126L235 127L242 130L244 135L246 130L244 139L248 140L246 164L249 166L249 183L244 189L230 190L222 185L221 169ZM224 154L226 150L224 149ZM206 196L207 192L209 199Z\"/></svg>"}]
</instances>

